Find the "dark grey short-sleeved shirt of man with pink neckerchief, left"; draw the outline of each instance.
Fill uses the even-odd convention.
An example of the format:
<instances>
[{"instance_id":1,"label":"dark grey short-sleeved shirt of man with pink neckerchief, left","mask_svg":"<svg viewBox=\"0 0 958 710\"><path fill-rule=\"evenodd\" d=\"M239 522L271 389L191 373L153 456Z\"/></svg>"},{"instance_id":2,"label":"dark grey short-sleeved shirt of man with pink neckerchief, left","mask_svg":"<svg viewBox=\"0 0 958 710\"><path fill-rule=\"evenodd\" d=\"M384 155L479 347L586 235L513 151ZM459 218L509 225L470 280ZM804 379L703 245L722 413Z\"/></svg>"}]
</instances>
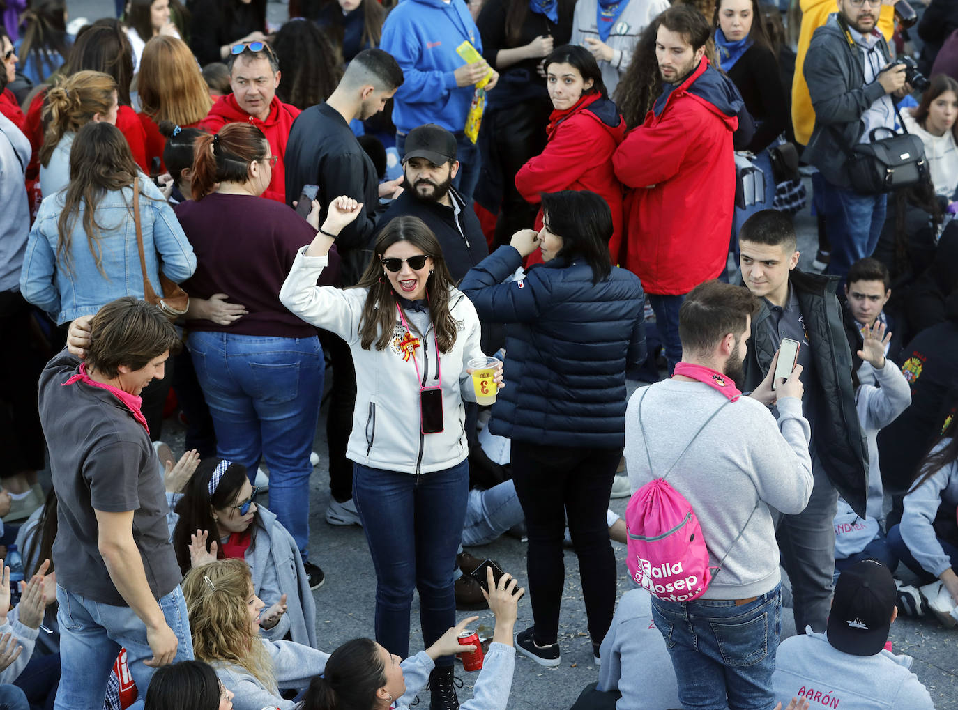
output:
<instances>
[{"instance_id":1,"label":"dark grey short-sleeved shirt of man with pink neckerchief, left","mask_svg":"<svg viewBox=\"0 0 958 710\"><path fill-rule=\"evenodd\" d=\"M182 575L170 544L166 493L156 452L142 424L112 393L82 382L63 386L80 371L66 350L40 376L40 421L50 449L57 491L57 584L102 604L125 607L100 556L94 510L133 513L133 539L153 596Z\"/></svg>"}]
</instances>

